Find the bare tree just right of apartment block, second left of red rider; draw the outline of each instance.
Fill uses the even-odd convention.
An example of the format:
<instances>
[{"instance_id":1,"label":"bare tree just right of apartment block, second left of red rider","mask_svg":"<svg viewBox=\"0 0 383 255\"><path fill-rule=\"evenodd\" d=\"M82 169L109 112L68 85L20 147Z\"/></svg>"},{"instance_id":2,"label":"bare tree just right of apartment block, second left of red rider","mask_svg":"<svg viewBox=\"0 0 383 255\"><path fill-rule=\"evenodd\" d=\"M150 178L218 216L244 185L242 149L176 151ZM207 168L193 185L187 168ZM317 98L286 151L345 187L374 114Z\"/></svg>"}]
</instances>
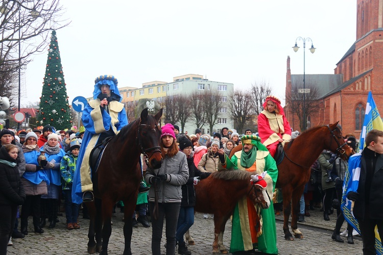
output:
<instances>
[{"instance_id":1,"label":"bare tree just right of apartment block, second left of red rider","mask_svg":"<svg viewBox=\"0 0 383 255\"><path fill-rule=\"evenodd\" d=\"M228 108L234 120L234 128L242 134L246 121L253 111L251 92L236 89L228 96Z\"/></svg>"}]
</instances>

